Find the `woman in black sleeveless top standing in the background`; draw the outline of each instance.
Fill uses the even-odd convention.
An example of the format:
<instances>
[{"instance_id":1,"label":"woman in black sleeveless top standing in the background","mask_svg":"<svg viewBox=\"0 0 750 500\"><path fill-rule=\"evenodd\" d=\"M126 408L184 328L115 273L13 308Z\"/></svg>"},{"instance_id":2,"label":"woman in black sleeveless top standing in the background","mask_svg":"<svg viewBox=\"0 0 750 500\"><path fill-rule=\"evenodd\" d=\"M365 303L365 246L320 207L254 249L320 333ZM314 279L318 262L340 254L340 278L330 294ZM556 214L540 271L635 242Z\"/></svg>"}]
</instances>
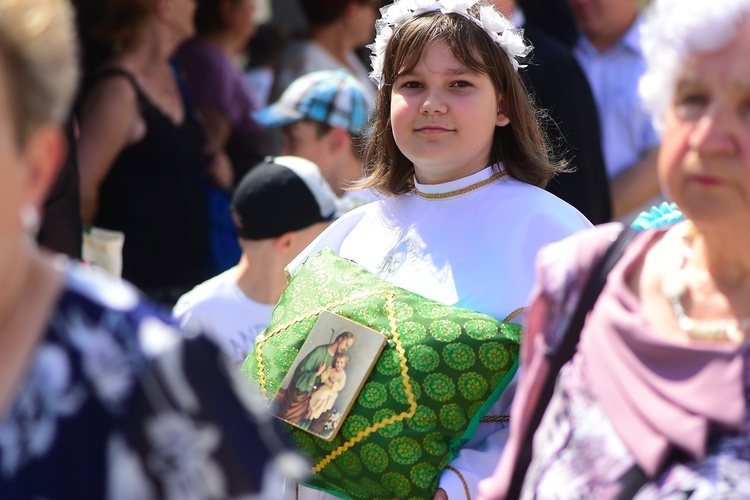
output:
<instances>
[{"instance_id":1,"label":"woman in black sleeveless top standing in the background","mask_svg":"<svg viewBox=\"0 0 750 500\"><path fill-rule=\"evenodd\" d=\"M195 31L195 9L106 0L91 32L114 50L78 106L83 222L123 232L123 277L170 304L208 267L205 132L170 64Z\"/></svg>"}]
</instances>

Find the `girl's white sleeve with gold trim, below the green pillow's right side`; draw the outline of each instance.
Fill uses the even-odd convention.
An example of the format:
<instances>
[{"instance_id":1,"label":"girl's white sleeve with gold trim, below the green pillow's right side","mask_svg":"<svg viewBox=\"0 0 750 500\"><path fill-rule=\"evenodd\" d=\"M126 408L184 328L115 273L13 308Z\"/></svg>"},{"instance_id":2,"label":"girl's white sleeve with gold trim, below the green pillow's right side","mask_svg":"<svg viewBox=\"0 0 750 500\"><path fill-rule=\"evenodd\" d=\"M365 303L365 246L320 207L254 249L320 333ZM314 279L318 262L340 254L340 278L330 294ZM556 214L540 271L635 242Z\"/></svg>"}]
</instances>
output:
<instances>
[{"instance_id":1,"label":"girl's white sleeve with gold trim, below the green pillow's right side","mask_svg":"<svg viewBox=\"0 0 750 500\"><path fill-rule=\"evenodd\" d=\"M508 384L500 399L492 405L488 416L510 415L510 405L516 393L519 372ZM440 475L440 488L445 490L449 500L477 498L479 481L495 472L500 455L510 435L509 424L505 422L480 423L477 433L459 451L458 456ZM456 471L458 473L456 473ZM460 475L459 475L460 474ZM462 480L463 478L463 480ZM464 481L466 485L464 485Z\"/></svg>"}]
</instances>

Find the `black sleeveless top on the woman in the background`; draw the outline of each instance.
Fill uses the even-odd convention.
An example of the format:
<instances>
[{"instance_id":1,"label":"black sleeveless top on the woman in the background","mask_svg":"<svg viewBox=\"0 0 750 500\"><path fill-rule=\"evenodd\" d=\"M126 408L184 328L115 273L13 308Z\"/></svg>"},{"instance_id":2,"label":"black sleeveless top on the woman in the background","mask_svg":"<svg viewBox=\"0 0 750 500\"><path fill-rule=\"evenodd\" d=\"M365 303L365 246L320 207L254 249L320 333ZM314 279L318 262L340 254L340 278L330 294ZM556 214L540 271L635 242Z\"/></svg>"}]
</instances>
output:
<instances>
[{"instance_id":1,"label":"black sleeveless top on the woman in the background","mask_svg":"<svg viewBox=\"0 0 750 500\"><path fill-rule=\"evenodd\" d=\"M88 88L114 75L133 85L147 128L140 142L122 150L102 182L94 224L125 233L123 278L157 300L173 302L205 278L205 135L182 86L181 124L154 106L134 76L121 68L94 74Z\"/></svg>"}]
</instances>

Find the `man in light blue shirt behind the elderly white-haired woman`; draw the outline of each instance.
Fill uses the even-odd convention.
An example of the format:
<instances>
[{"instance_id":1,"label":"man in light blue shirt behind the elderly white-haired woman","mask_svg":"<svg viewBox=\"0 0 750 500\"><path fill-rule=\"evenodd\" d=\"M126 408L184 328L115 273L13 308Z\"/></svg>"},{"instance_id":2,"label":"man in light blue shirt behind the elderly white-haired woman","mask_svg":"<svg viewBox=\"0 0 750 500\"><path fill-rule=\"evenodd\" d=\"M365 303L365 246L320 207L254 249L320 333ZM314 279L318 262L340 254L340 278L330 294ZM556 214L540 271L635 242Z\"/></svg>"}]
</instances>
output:
<instances>
[{"instance_id":1,"label":"man in light blue shirt behind the elderly white-haired woman","mask_svg":"<svg viewBox=\"0 0 750 500\"><path fill-rule=\"evenodd\" d=\"M613 217L650 206L659 194L659 136L638 96L644 70L637 0L568 0L581 36L575 56L599 108Z\"/></svg>"}]
</instances>

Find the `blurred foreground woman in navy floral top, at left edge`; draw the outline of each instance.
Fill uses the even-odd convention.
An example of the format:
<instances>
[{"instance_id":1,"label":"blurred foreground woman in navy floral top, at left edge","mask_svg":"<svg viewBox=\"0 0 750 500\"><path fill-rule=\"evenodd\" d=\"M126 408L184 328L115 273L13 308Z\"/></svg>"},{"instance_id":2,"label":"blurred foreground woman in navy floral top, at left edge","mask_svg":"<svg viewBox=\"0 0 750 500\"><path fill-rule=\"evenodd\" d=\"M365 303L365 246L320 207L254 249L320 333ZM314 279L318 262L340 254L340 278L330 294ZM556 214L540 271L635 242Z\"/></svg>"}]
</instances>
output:
<instances>
[{"instance_id":1,"label":"blurred foreground woman in navy floral top, at left edge","mask_svg":"<svg viewBox=\"0 0 750 500\"><path fill-rule=\"evenodd\" d=\"M32 243L64 156L72 19L68 0L0 2L0 498L250 497L290 454L216 348Z\"/></svg>"}]
</instances>

